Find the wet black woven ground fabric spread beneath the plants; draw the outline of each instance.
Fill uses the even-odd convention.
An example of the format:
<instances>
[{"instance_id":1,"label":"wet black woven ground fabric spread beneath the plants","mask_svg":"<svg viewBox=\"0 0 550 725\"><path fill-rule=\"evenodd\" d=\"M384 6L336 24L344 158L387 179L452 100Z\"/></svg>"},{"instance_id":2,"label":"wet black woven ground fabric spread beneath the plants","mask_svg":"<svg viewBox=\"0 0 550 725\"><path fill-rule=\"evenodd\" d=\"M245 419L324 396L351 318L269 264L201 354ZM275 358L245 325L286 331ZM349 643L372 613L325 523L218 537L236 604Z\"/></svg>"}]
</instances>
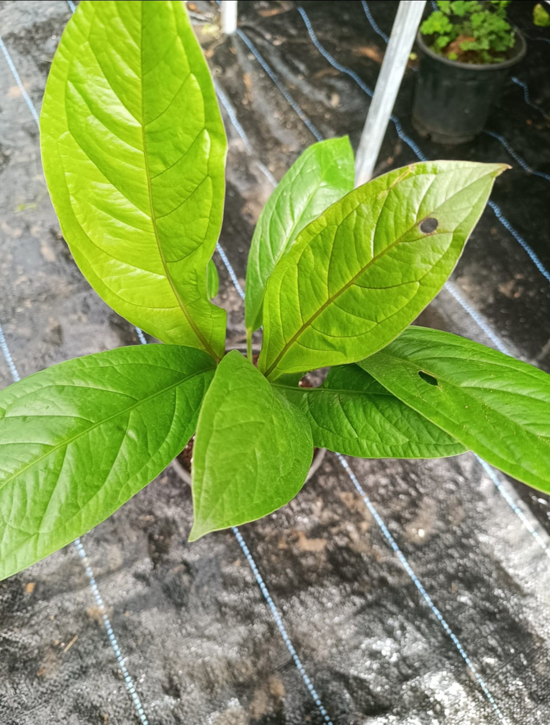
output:
<instances>
[{"instance_id":1,"label":"wet black woven ground fabric spread beneath the plants","mask_svg":"<svg viewBox=\"0 0 550 725\"><path fill-rule=\"evenodd\" d=\"M213 3L190 3L216 80L251 152L230 141L221 244L242 284L255 220L313 136L241 38L223 39ZM550 115L550 31L512 4L528 56L516 69ZM305 2L319 41L374 88L385 43L360 2ZM397 3L374 2L390 32ZM369 99L319 54L292 2L239 3L242 30L324 136L358 143ZM62 28L62 1L0 2L0 32L39 109ZM522 170L491 136L453 149L418 138L409 116L414 70L395 113L430 158L503 161L493 200L550 268L550 183ZM488 128L533 170L550 173L548 117L509 83ZM390 125L377 173L415 160ZM136 342L91 291L67 252L41 174L38 132L0 56L0 321L20 374ZM242 337L242 303L221 265L229 335ZM550 370L550 283L493 211L486 210L453 282L519 357ZM450 294L424 324L487 341ZM0 385L9 384L0 362ZM403 568L337 458L290 505L242 528L292 644L336 725L508 724L550 721L550 531L546 497L501 476L528 526L471 455L443 461L350 460L388 533L469 655L480 682ZM144 708L128 695L75 547L0 583L0 712L4 725L313 725L306 689L237 539L186 544L191 497L173 469L83 537L112 629ZM545 548L546 547L546 550ZM76 637L76 639L75 639ZM494 704L493 704L494 703ZM498 708L496 710L495 708ZM498 713L501 713L499 716ZM144 720L144 718L147 718Z\"/></svg>"}]
</instances>

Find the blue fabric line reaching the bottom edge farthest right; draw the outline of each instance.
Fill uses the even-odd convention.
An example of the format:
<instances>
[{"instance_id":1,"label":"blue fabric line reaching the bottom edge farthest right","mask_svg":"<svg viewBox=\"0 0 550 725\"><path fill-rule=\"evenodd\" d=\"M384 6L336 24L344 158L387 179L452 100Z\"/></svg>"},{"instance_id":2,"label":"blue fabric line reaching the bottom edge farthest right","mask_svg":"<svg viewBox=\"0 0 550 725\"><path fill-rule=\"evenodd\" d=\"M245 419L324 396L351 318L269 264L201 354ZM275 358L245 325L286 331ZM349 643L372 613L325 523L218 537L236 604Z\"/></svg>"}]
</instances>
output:
<instances>
[{"instance_id":1,"label":"blue fabric line reaching the bottom edge farthest right","mask_svg":"<svg viewBox=\"0 0 550 725\"><path fill-rule=\"evenodd\" d=\"M416 589L418 589L418 591L422 595L424 602L426 602L426 604L428 605L430 610L432 610L432 613L434 614L435 618L438 619L440 625L446 631L446 634L448 634L448 637L451 638L453 645L456 647L457 650L459 650L461 658L466 663L469 671L472 673L473 676L475 676L475 679L477 680L477 683L480 685L481 689L483 690L485 697L487 697L488 701L491 703L493 710L496 713L496 716L501 721L501 723L506 723L506 720L504 719L503 714L501 713L500 709L498 708L498 705L496 704L496 701L495 701L493 695L491 695L491 692L489 692L489 689L488 689L487 685L485 684L483 677L479 674L479 672L475 668L475 665L474 665L474 663L472 663L472 660L470 660L470 658L467 655L466 650L464 650L464 647L461 644L459 638L456 637L456 634L454 634L451 627L448 626L446 620L443 618L443 615L440 613L440 610L438 610L438 608L432 602L432 598L427 593L426 589L424 589L424 587L422 586L422 582L419 580L419 578L414 573L414 571L411 568L411 565L409 564L405 555L403 554L401 549L398 547L398 544L397 544L397 542L395 542L395 539L393 538L392 534L390 534L390 530L385 525L382 517L379 515L377 510L374 508L374 505L372 504L371 500L364 492L363 486L361 486L361 484L359 483L359 481L357 479L357 476L351 470L351 468L348 464L348 461L345 460L345 457L343 457L340 453L337 453L336 455L337 455L338 460L340 460L340 463L342 464L343 468L345 468L346 473L348 473L350 481L352 481L353 485L357 489L358 494L363 499L364 504L366 505L366 508L369 509L369 512L371 513L372 517L374 518L374 521L376 521L380 531L382 531L382 534L384 535L387 543L390 544L390 547L395 552L395 555L397 555L398 559L401 562L401 565L405 569L406 573L409 575L414 586L416 587Z\"/></svg>"}]
</instances>

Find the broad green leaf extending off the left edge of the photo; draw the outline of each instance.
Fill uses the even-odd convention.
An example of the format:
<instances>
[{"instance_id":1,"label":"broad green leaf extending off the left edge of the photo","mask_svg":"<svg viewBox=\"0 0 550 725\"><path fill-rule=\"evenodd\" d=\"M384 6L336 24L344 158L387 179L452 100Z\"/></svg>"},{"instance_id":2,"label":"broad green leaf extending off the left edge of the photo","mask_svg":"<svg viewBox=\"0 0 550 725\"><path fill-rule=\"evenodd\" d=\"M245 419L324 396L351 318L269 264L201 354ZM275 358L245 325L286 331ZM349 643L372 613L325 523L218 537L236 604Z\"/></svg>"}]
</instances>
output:
<instances>
[{"instance_id":1,"label":"broad green leaf extending off the left edge of the photo","mask_svg":"<svg viewBox=\"0 0 550 725\"><path fill-rule=\"evenodd\" d=\"M1 391L0 579L152 481L192 436L215 368L190 347L119 347Z\"/></svg>"}]
</instances>

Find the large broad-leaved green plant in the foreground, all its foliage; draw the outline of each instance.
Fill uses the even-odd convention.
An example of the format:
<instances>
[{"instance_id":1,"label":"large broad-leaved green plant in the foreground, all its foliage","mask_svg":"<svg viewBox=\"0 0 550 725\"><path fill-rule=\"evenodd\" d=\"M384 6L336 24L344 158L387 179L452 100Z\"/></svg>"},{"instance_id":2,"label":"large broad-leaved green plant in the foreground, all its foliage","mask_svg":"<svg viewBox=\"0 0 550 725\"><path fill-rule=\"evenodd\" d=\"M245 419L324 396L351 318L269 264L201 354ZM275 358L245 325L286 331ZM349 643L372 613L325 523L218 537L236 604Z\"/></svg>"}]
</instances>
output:
<instances>
[{"instance_id":1,"label":"large broad-leaved green plant in the foreground, all its foliage","mask_svg":"<svg viewBox=\"0 0 550 725\"><path fill-rule=\"evenodd\" d=\"M191 540L291 500L314 446L469 449L550 490L550 376L410 326L504 165L423 162L354 189L348 139L311 146L258 220L245 357L226 352L211 301L226 136L183 3L79 5L49 74L41 151L75 262L163 344L69 360L0 393L0 576L103 521L193 434ZM319 387L299 386L327 367Z\"/></svg>"}]
</instances>

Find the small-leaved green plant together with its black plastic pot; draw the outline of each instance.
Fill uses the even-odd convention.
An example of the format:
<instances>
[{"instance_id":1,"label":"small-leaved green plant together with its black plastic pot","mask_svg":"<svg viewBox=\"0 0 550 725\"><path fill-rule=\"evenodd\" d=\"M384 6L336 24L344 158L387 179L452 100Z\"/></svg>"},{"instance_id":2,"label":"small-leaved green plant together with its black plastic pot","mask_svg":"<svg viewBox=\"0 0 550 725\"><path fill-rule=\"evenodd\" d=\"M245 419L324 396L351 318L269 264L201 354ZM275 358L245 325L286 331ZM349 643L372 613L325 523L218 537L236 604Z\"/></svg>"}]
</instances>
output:
<instances>
[{"instance_id":1,"label":"small-leaved green plant together with its black plastic pot","mask_svg":"<svg viewBox=\"0 0 550 725\"><path fill-rule=\"evenodd\" d=\"M525 56L525 38L506 20L509 0L438 0L416 41L413 125L442 144L483 129L509 69Z\"/></svg>"}]
</instances>

